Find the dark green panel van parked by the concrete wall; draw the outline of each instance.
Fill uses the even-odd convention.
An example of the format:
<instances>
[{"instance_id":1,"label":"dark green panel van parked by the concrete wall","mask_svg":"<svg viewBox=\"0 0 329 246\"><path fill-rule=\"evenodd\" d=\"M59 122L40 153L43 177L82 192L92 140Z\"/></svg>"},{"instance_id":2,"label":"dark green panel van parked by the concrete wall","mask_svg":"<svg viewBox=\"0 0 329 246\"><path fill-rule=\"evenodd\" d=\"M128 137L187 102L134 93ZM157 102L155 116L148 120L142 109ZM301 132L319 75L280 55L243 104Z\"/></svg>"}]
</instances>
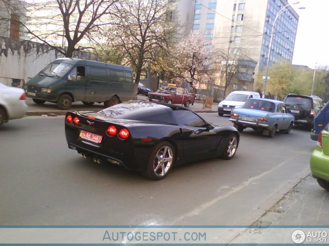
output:
<instances>
[{"instance_id":1,"label":"dark green panel van parked by the concrete wall","mask_svg":"<svg viewBox=\"0 0 329 246\"><path fill-rule=\"evenodd\" d=\"M105 107L128 101L133 94L129 67L73 58L56 59L30 79L24 89L36 104L46 101L68 110L72 102Z\"/></svg>"}]
</instances>

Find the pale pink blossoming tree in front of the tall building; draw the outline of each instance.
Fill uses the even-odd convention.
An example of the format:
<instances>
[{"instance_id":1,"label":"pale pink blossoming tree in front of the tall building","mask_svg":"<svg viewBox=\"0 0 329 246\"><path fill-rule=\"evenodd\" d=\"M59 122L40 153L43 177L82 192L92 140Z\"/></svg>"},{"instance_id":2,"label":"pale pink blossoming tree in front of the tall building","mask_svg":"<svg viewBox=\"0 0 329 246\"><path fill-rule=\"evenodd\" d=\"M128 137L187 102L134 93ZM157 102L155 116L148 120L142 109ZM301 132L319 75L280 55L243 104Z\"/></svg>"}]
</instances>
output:
<instances>
[{"instance_id":1,"label":"pale pink blossoming tree in front of the tall building","mask_svg":"<svg viewBox=\"0 0 329 246\"><path fill-rule=\"evenodd\" d=\"M171 64L175 81L188 81L196 85L213 80L215 52L211 42L199 32L193 31L182 38L173 53Z\"/></svg>"}]
</instances>

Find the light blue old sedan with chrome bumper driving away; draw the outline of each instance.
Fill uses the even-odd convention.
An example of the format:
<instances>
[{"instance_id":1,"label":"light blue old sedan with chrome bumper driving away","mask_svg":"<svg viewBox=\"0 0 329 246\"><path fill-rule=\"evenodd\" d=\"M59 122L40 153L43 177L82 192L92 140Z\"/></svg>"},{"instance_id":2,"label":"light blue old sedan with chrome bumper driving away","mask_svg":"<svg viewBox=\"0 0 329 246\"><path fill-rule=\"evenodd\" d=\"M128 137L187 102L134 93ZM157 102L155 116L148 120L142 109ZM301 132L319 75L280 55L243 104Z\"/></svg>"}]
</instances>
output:
<instances>
[{"instance_id":1,"label":"light blue old sedan with chrome bumper driving away","mask_svg":"<svg viewBox=\"0 0 329 246\"><path fill-rule=\"evenodd\" d=\"M263 98L248 99L243 106L237 106L231 112L230 118L239 132L247 127L263 129L263 134L269 137L273 137L277 130L290 133L294 120L284 102Z\"/></svg>"}]
</instances>

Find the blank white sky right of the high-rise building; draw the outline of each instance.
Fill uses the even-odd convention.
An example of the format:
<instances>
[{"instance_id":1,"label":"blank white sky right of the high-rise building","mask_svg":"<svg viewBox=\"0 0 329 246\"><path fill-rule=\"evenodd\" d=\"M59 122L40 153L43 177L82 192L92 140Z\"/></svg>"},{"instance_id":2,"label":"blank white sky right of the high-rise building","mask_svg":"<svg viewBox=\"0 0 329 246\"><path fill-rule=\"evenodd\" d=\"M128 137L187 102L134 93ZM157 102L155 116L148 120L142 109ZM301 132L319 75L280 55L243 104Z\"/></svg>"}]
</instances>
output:
<instances>
[{"instance_id":1,"label":"blank white sky right of the high-rise building","mask_svg":"<svg viewBox=\"0 0 329 246\"><path fill-rule=\"evenodd\" d=\"M296 9L299 22L296 34L292 64L314 68L329 66L329 0L288 0L290 4L299 2Z\"/></svg>"}]
</instances>

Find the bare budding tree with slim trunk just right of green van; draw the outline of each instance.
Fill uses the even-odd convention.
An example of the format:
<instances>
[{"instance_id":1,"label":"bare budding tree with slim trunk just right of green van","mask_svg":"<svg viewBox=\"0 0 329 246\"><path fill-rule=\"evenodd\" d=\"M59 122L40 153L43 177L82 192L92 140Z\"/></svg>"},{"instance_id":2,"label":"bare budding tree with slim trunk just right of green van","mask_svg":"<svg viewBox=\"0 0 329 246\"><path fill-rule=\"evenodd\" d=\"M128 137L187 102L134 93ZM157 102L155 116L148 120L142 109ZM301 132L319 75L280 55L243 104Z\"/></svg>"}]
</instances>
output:
<instances>
[{"instance_id":1,"label":"bare budding tree with slim trunk just right of green van","mask_svg":"<svg viewBox=\"0 0 329 246\"><path fill-rule=\"evenodd\" d=\"M117 18L107 32L108 47L120 51L123 64L136 73L132 99L137 99L140 75L154 66L162 67L175 43L177 24L171 21L168 0L120 0Z\"/></svg>"}]
</instances>

